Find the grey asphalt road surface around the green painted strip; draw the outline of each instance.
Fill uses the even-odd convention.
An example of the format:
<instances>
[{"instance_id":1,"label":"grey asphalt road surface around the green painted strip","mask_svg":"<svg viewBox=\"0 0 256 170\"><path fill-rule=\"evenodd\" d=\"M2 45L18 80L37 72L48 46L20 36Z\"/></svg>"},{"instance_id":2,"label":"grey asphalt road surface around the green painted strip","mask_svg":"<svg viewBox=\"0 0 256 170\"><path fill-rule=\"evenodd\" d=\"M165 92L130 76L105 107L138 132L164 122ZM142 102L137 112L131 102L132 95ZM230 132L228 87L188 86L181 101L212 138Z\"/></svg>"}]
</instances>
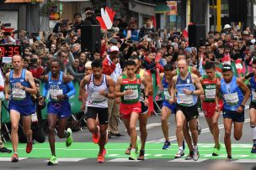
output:
<instances>
[{"instance_id":1,"label":"grey asphalt road surface around the green painted strip","mask_svg":"<svg viewBox=\"0 0 256 170\"><path fill-rule=\"evenodd\" d=\"M243 146L243 152L246 154L250 152L250 144L252 142L251 139L251 131L249 127L249 119L248 119L248 109L246 109L245 114L245 123L243 126L243 137L240 141L235 141L232 137L232 144L239 146L242 146L242 144L248 144L247 146ZM222 125L222 116L220 116L219 119L219 125L220 125L220 140L223 142L224 137L224 128ZM148 137L147 137L147 143L160 143L160 150L163 143L163 132L161 129L161 118L160 116L151 116L148 120ZM199 137L199 143L200 146L204 147L205 144L212 144L213 139L211 137L211 133L207 127L205 117L200 116L200 126L202 127L202 133ZM116 143L118 145L119 143L129 142L129 137L125 132L124 124L120 124L120 133L125 135L123 138L111 138L109 139L109 143ZM177 141L175 138L175 122L174 117L170 116L169 118L169 137L172 141L172 145L175 146ZM57 137L56 137L57 138ZM73 133L74 142L90 142L91 141L91 134L88 132L86 128L83 129L83 131L77 131ZM56 140L57 142L63 142L63 140ZM237 147L234 146L234 147ZM176 146L177 147L177 146ZM171 147L172 148L172 147ZM125 150L125 148L124 148ZM223 147L223 150L225 151L225 148ZM161 151L165 152L165 151ZM173 152L176 152L173 150ZM224 152L225 153L225 152ZM211 152L209 152L211 154ZM11 156L11 155L10 155ZM28 156L29 157L29 156ZM221 155L221 159L225 160L226 154ZM252 157L252 156L251 156ZM253 156L254 157L254 156ZM198 162L195 161L184 161L182 160L175 160L173 157L169 158L149 158L145 161L128 161L127 157L115 157L113 155L113 158L107 157L106 162L104 163L98 163L96 157L95 158L83 158L81 160L72 161L69 159L61 159L60 163L54 167L48 167L46 164L46 159L44 158L25 158L24 160L20 160L18 163L11 163L9 161L9 158L1 158L0 154L0 170L2 169L90 169L90 170L96 170L96 169L111 169L111 170L125 170L125 169L134 169L134 170L153 170L153 169L207 169L211 163L216 162L215 160L212 160L211 158L200 157L200 160ZM256 166L256 154L254 159L247 159L246 156L237 158L232 162L232 164L239 164L243 167L244 170L252 169L253 166Z\"/></svg>"}]
</instances>

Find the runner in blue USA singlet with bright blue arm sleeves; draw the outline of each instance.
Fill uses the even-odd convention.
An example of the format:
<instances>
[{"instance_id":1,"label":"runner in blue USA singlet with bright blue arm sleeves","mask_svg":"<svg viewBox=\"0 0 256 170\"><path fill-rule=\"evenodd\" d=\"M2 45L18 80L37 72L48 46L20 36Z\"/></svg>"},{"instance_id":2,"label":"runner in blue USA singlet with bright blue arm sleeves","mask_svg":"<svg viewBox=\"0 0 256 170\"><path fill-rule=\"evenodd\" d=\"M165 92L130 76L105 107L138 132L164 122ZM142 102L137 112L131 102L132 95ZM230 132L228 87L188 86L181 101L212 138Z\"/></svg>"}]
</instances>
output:
<instances>
[{"instance_id":1,"label":"runner in blue USA singlet with bright blue arm sleeves","mask_svg":"<svg viewBox=\"0 0 256 170\"><path fill-rule=\"evenodd\" d=\"M44 76L43 95L40 97L40 105L45 102L45 97L50 94L50 101L47 105L47 121L48 121L48 137L51 147L51 157L48 165L58 164L55 151L55 135L54 130L57 126L57 135L66 139L66 146L72 145L72 130L70 128L65 131L67 120L71 116L71 106L68 102L70 96L75 95L76 90L72 84L71 78L61 71L61 61L59 59L51 60L51 71Z\"/></svg>"}]
</instances>

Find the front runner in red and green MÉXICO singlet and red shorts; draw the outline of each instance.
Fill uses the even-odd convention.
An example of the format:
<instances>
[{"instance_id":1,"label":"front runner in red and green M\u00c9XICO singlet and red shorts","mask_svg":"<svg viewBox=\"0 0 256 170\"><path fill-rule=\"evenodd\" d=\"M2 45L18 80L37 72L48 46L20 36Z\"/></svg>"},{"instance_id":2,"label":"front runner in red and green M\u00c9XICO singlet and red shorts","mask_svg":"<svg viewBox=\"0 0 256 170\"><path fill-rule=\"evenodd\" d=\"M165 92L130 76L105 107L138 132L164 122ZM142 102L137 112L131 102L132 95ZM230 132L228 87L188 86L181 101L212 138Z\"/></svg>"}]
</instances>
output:
<instances>
[{"instance_id":1,"label":"front runner in red and green M\u00c9XICO singlet and red shorts","mask_svg":"<svg viewBox=\"0 0 256 170\"><path fill-rule=\"evenodd\" d=\"M141 102L139 101L141 84L145 86L145 106L148 105L148 84L144 77L135 74L136 63L134 60L126 61L125 69L126 74L121 75L117 80L115 97L121 97L120 115L125 123L127 133L131 137L131 153L129 159L136 160L136 151L139 151L136 121L139 118L139 114L141 114Z\"/></svg>"}]
</instances>

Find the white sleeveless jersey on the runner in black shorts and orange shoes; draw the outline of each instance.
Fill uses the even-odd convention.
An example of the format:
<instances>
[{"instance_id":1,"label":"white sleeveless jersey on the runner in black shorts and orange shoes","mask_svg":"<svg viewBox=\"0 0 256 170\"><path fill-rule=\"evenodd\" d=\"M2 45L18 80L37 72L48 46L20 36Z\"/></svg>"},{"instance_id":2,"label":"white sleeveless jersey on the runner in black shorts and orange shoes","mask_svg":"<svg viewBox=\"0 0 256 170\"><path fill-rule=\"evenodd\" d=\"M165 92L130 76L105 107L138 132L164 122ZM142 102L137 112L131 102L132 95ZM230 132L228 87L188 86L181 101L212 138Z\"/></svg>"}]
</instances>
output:
<instances>
[{"instance_id":1,"label":"white sleeveless jersey on the runner in black shorts and orange shoes","mask_svg":"<svg viewBox=\"0 0 256 170\"><path fill-rule=\"evenodd\" d=\"M86 106L91 107L100 107L107 108L108 107L108 98L100 95L100 91L108 92L108 85L106 80L106 75L103 75L103 80L100 85L94 85L93 74L90 77L90 82L88 84L88 99L86 101Z\"/></svg>"}]
</instances>

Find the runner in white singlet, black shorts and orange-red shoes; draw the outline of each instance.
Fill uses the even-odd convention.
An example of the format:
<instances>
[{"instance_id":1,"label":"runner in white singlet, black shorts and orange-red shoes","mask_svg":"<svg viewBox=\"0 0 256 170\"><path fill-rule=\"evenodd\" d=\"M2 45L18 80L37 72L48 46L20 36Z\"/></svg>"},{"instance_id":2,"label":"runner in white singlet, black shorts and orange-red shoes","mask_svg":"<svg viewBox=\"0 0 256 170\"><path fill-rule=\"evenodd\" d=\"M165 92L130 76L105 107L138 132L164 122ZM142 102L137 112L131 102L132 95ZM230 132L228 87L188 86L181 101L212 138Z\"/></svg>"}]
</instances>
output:
<instances>
[{"instance_id":1,"label":"runner in white singlet, black shorts and orange-red shoes","mask_svg":"<svg viewBox=\"0 0 256 170\"><path fill-rule=\"evenodd\" d=\"M114 99L114 82L109 75L102 74L102 63L94 60L92 63L93 74L83 78L80 84L80 93L84 94L84 86L88 85L88 98L86 112L88 130L93 133L93 142L99 144L98 162L104 162L106 149L104 148L108 137L108 98ZM99 126L96 117L99 117Z\"/></svg>"}]
</instances>

